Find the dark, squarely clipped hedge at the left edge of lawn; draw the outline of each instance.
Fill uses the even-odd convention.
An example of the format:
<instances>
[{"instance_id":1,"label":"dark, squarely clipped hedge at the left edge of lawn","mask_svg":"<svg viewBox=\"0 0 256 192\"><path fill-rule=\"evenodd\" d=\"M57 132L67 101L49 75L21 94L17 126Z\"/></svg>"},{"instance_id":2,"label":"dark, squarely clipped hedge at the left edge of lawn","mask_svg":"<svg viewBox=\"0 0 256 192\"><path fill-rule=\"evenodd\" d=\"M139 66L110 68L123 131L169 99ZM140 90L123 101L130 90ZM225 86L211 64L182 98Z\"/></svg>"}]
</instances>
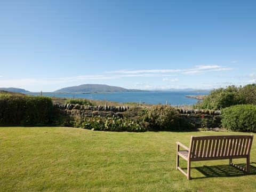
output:
<instances>
[{"instance_id":1,"label":"dark, squarely clipped hedge at the left edge of lawn","mask_svg":"<svg viewBox=\"0 0 256 192\"><path fill-rule=\"evenodd\" d=\"M49 97L0 94L0 125L45 125L53 120Z\"/></svg>"}]
</instances>

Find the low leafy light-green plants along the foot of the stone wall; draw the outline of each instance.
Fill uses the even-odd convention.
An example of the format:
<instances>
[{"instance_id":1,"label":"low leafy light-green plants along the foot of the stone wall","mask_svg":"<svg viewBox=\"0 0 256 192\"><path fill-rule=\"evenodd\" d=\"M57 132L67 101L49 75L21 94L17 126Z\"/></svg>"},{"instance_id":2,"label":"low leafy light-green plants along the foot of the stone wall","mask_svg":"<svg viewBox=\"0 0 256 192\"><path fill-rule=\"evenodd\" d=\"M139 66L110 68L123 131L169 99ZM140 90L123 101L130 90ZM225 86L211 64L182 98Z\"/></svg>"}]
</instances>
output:
<instances>
[{"instance_id":1,"label":"low leafy light-green plants along the foot of the stone wall","mask_svg":"<svg viewBox=\"0 0 256 192\"><path fill-rule=\"evenodd\" d=\"M142 122L127 118L93 117L76 121L77 127L92 129L94 131L128 131L145 132L147 127Z\"/></svg>"}]
</instances>

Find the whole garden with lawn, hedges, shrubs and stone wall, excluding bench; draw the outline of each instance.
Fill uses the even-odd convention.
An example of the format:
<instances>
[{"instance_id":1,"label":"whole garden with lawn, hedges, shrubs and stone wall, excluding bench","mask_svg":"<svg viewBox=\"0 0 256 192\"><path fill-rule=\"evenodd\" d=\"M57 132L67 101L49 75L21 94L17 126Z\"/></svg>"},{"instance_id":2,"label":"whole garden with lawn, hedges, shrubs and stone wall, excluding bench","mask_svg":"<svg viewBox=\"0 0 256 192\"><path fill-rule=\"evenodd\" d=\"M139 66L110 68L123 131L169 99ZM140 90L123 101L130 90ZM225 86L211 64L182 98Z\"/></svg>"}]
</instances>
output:
<instances>
[{"instance_id":1,"label":"whole garden with lawn, hedges, shrubs and stone wall, excluding bench","mask_svg":"<svg viewBox=\"0 0 256 192\"><path fill-rule=\"evenodd\" d=\"M255 191L255 142L249 174L228 160L193 162L190 181L175 169L175 142L191 135L255 138L255 95L255 85L229 86L180 109L2 93L0 191Z\"/></svg>"}]
</instances>

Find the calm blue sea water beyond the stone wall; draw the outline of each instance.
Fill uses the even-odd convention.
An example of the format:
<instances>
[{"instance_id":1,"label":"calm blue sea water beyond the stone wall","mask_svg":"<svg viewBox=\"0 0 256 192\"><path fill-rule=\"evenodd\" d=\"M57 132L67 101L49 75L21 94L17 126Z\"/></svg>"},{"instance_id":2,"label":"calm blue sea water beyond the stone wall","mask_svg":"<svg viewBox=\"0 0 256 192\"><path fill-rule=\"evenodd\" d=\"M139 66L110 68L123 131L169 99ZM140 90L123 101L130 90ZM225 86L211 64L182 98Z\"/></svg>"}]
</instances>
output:
<instances>
[{"instance_id":1,"label":"calm blue sea water beyond the stone wall","mask_svg":"<svg viewBox=\"0 0 256 192\"><path fill-rule=\"evenodd\" d=\"M39 93L31 93L39 95ZM45 96L59 98L86 98L92 100L105 100L114 102L141 102L148 104L193 105L198 100L187 98L186 95L209 94L209 92L195 91L134 91L113 93L43 93Z\"/></svg>"}]
</instances>

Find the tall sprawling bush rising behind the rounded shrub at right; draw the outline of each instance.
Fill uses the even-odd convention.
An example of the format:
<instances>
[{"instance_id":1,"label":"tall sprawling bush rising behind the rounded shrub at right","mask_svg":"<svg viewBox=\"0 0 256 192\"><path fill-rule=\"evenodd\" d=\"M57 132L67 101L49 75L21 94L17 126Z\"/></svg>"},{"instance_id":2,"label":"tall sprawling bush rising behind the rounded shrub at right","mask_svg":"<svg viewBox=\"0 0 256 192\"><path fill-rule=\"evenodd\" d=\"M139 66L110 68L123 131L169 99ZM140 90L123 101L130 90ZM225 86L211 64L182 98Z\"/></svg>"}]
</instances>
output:
<instances>
[{"instance_id":1,"label":"tall sprawling bush rising behind the rounded shrub at right","mask_svg":"<svg viewBox=\"0 0 256 192\"><path fill-rule=\"evenodd\" d=\"M219 110L238 104L256 104L255 84L244 87L228 86L226 89L213 90L202 102L197 103L194 107Z\"/></svg>"}]
</instances>

